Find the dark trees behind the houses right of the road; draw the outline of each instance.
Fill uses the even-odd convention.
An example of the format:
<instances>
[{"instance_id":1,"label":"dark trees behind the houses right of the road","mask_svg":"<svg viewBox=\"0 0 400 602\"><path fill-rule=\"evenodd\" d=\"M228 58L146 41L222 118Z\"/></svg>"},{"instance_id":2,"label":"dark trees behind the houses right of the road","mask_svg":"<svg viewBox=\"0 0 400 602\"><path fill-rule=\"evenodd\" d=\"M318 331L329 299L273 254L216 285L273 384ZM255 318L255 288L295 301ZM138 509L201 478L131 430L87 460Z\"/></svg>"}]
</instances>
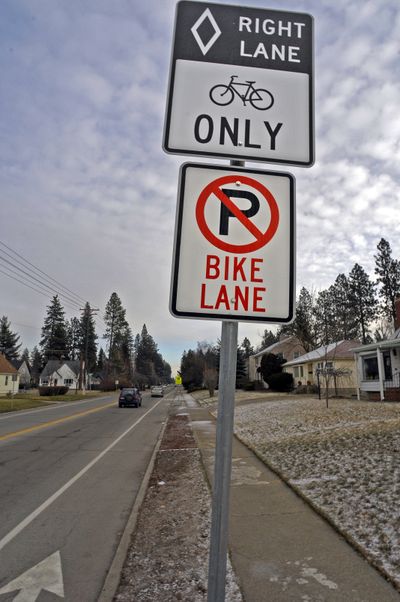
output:
<instances>
[{"instance_id":1,"label":"dark trees behind the houses right of the road","mask_svg":"<svg viewBox=\"0 0 400 602\"><path fill-rule=\"evenodd\" d=\"M250 355L279 341L282 335L294 335L306 352L341 340L358 340L363 344L389 336L396 316L395 301L400 297L400 261L392 257L390 244L381 238L377 245L375 280L355 263L348 274L338 274L334 283L318 293L306 287L300 290L295 319L276 333L264 330L255 348L246 337L238 347L237 384L242 363ZM372 331L372 328L374 330ZM181 376L185 386L208 386L217 382L219 343L198 343L196 349L184 351Z\"/></svg>"}]
</instances>

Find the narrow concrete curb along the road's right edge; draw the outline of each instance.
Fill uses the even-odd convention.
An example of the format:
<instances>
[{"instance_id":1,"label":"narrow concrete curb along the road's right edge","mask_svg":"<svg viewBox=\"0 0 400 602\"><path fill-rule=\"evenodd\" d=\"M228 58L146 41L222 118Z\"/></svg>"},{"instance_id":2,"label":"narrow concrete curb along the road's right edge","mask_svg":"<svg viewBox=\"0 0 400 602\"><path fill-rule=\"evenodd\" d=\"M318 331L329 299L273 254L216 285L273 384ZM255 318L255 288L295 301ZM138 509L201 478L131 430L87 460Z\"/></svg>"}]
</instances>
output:
<instances>
[{"instance_id":1,"label":"narrow concrete curb along the road's right edge","mask_svg":"<svg viewBox=\"0 0 400 602\"><path fill-rule=\"evenodd\" d=\"M154 446L154 450L151 455L149 464L146 468L146 472L145 472L142 482L140 484L139 491L136 495L136 499L133 504L132 511L131 511L128 521L125 525L124 532L123 532L120 542L118 544L118 547L115 552L114 559L111 563L110 569L105 578L103 587L101 588L99 597L97 598L97 602L112 602L112 600L117 592L117 588L118 588L119 581L121 578L122 568L124 566L125 558L126 558L126 555L128 552L129 545L130 545L131 536L136 527L139 510L140 510L140 507L143 503L144 497L147 492L149 480L150 480L151 474L153 472L156 457L157 457L158 451L160 449L161 441L164 436L164 431L166 429L167 424L168 424L168 416L166 417L164 425L162 426L162 428L160 430L157 443Z\"/></svg>"}]
</instances>

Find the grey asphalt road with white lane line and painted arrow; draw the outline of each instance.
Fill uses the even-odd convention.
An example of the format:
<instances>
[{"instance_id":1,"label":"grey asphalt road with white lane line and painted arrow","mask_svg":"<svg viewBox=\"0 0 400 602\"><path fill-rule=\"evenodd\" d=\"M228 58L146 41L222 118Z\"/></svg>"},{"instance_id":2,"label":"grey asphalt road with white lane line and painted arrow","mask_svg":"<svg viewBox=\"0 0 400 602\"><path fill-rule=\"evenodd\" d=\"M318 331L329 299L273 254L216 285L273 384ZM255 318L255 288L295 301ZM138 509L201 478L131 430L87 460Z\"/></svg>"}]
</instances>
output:
<instances>
[{"instance_id":1,"label":"grey asphalt road with white lane line and painted arrow","mask_svg":"<svg viewBox=\"0 0 400 602\"><path fill-rule=\"evenodd\" d=\"M0 417L0 602L97 600L168 409L116 399Z\"/></svg>"}]
</instances>

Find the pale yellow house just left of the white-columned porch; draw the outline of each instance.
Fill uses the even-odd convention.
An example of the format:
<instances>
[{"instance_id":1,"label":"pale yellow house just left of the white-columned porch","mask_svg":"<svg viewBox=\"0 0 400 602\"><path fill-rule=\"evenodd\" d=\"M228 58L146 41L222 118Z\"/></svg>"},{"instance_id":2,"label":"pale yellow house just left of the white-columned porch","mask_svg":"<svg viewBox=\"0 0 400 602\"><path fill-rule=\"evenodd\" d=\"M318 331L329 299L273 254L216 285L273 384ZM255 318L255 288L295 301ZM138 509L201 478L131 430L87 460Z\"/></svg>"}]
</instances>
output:
<instances>
[{"instance_id":1,"label":"pale yellow house just left of the white-columned porch","mask_svg":"<svg viewBox=\"0 0 400 602\"><path fill-rule=\"evenodd\" d=\"M315 385L328 389L335 395L355 395L357 374L353 348L358 341L338 341L323 345L287 362L284 372L293 375L298 385Z\"/></svg>"}]
</instances>

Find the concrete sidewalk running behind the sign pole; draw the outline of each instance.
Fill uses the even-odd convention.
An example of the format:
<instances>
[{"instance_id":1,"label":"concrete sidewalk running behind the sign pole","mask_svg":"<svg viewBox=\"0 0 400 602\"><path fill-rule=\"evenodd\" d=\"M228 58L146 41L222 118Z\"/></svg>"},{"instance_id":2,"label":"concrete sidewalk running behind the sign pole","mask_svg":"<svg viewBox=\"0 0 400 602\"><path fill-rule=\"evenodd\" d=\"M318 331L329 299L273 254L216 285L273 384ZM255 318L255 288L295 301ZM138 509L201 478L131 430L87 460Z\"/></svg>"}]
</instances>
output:
<instances>
[{"instance_id":1,"label":"concrete sidewalk running behind the sign pole","mask_svg":"<svg viewBox=\"0 0 400 602\"><path fill-rule=\"evenodd\" d=\"M213 483L216 422L209 409L185 398ZM390 583L236 438L230 514L229 547L246 602L400 601Z\"/></svg>"}]
</instances>

